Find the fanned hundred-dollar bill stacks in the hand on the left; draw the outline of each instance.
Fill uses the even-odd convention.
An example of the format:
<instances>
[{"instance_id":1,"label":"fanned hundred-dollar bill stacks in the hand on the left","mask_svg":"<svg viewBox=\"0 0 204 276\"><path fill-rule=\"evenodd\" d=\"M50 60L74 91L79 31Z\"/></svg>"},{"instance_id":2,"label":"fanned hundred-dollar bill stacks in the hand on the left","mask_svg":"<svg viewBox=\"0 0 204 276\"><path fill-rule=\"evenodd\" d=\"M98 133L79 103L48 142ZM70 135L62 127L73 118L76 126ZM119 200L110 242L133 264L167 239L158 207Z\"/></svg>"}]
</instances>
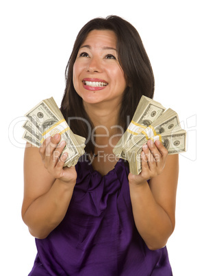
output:
<instances>
[{"instance_id":1,"label":"fanned hundred-dollar bill stacks in the hand on the left","mask_svg":"<svg viewBox=\"0 0 204 276\"><path fill-rule=\"evenodd\" d=\"M79 157L84 154L86 139L72 132L53 97L42 100L27 112L25 117L27 121L23 124L23 139L39 148L44 139L59 133L60 142L66 141L62 154L68 153L64 167L76 165Z\"/></svg>"}]
</instances>

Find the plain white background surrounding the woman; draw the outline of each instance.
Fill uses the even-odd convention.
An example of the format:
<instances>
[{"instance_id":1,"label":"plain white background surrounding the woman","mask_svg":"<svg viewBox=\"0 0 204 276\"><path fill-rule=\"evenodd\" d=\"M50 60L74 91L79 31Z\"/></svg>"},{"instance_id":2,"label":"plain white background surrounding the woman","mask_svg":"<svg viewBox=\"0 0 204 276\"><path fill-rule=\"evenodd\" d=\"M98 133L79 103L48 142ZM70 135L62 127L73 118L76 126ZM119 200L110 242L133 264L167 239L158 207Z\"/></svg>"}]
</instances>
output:
<instances>
[{"instance_id":1,"label":"plain white background surrounding the woman","mask_svg":"<svg viewBox=\"0 0 204 276\"><path fill-rule=\"evenodd\" d=\"M204 275L202 2L1 2L1 275L27 275L36 255L34 238L21 220L23 115L47 97L60 105L77 33L90 19L110 14L127 19L140 33L155 74L154 99L177 111L188 132L168 253L174 276Z\"/></svg>"}]
</instances>

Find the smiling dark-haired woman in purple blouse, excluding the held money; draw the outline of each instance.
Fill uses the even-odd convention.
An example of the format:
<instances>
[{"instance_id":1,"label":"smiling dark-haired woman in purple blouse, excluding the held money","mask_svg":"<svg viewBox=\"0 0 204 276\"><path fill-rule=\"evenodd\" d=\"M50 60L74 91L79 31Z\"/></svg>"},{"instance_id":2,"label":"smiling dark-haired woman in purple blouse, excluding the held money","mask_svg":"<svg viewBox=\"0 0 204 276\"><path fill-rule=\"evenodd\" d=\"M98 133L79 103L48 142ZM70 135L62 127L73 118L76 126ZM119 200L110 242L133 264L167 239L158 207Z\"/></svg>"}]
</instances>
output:
<instances>
[{"instance_id":1,"label":"smiling dark-haired woman in purple blouse, excluding the held money","mask_svg":"<svg viewBox=\"0 0 204 276\"><path fill-rule=\"evenodd\" d=\"M112 154L140 97L153 97L136 29L118 16L88 22L66 80L61 110L87 138L88 159L63 168L60 135L46 139L40 154L25 149L22 216L38 249L29 275L172 275L165 245L175 227L177 154L147 141L138 176Z\"/></svg>"}]
</instances>

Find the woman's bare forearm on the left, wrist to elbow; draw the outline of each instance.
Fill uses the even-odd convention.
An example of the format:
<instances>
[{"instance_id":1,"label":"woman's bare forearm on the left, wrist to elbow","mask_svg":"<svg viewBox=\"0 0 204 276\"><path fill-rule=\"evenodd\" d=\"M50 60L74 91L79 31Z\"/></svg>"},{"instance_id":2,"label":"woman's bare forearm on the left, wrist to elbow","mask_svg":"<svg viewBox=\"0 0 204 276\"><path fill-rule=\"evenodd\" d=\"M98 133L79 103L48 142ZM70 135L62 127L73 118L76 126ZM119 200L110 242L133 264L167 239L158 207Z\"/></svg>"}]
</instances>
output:
<instances>
[{"instance_id":1,"label":"woman's bare forearm on the left, wrist to elbow","mask_svg":"<svg viewBox=\"0 0 204 276\"><path fill-rule=\"evenodd\" d=\"M63 220L73 195L75 183L56 179L49 192L36 198L25 211L23 221L31 235L46 238Z\"/></svg>"}]
</instances>

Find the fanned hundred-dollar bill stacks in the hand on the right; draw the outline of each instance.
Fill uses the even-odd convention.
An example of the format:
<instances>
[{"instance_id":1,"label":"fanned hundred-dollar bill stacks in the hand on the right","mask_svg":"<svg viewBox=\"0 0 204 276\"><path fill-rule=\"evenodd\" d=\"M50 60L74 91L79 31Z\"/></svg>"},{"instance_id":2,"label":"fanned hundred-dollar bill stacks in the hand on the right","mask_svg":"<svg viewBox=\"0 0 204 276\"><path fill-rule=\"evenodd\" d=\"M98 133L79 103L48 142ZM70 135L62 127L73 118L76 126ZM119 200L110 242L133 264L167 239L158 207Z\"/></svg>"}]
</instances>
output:
<instances>
[{"instance_id":1,"label":"fanned hundred-dollar bill stacks in the hand on the right","mask_svg":"<svg viewBox=\"0 0 204 276\"><path fill-rule=\"evenodd\" d=\"M159 102L142 95L131 123L116 144L114 154L129 162L132 174L142 170L142 146L149 139L160 140L168 154L186 151L186 130L181 128L175 111L165 110Z\"/></svg>"}]
</instances>

